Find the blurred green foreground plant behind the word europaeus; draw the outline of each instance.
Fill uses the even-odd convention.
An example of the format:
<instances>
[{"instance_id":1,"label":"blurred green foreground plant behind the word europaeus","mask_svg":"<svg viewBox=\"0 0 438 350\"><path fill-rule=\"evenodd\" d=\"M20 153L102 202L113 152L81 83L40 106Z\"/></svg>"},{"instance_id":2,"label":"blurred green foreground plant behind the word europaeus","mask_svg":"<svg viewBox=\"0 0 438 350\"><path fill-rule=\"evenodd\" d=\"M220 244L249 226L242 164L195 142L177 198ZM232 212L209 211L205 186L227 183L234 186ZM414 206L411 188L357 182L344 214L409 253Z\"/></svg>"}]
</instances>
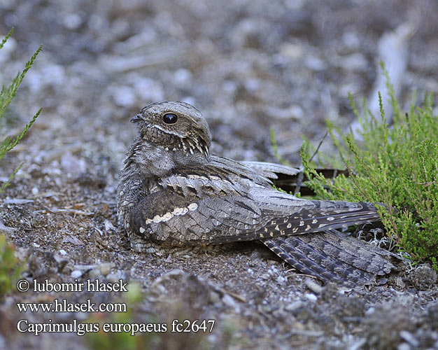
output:
<instances>
[{"instance_id":1,"label":"blurred green foreground plant behind the word europaeus","mask_svg":"<svg viewBox=\"0 0 438 350\"><path fill-rule=\"evenodd\" d=\"M127 306L126 312L100 313L89 318L90 323L99 324L99 332L87 332L85 336L91 349L213 349L208 335L214 323L192 320L195 328L187 328L190 317L178 297L160 315L152 311L145 314L141 286L134 283L127 288L128 292L120 298ZM228 336L224 335L226 340Z\"/></svg>"}]
</instances>

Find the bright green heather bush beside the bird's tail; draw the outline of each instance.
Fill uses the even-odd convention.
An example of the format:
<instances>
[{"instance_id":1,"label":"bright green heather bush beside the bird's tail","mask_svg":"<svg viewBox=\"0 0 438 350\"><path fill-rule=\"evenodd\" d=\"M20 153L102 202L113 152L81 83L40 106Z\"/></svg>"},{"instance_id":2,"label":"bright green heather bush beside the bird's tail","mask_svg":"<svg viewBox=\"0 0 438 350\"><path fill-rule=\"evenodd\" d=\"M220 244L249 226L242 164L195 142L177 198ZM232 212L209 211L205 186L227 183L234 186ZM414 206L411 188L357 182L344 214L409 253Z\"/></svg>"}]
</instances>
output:
<instances>
[{"instance_id":1,"label":"bright green heather bush beside the bird's tail","mask_svg":"<svg viewBox=\"0 0 438 350\"><path fill-rule=\"evenodd\" d=\"M360 116L350 96L362 125L363 142L356 141L352 132L341 136L332 125L328 127L351 176L325 179L317 174L305 143L301 151L304 172L320 198L385 204L388 209L379 211L389 237L412 260L428 260L438 270L438 118L432 113L432 94L426 94L421 108L415 108L414 94L409 113L402 113L388 72L381 67L393 107L393 126L388 126L381 94L380 122L365 102Z\"/></svg>"}]
</instances>

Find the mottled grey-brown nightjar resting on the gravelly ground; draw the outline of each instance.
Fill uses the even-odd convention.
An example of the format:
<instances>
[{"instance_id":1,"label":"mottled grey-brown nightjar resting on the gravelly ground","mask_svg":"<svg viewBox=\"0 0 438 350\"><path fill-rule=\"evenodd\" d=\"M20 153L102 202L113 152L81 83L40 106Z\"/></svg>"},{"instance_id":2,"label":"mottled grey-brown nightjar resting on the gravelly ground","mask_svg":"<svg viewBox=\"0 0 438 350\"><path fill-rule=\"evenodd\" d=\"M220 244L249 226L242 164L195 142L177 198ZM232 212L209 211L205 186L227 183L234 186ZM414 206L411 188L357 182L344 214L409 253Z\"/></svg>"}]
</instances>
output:
<instances>
[{"instance_id":1,"label":"mottled grey-brown nightjar resting on the gravelly ground","mask_svg":"<svg viewBox=\"0 0 438 350\"><path fill-rule=\"evenodd\" d=\"M150 104L132 118L118 186L118 216L136 251L259 239L323 281L372 283L393 265L383 250L336 229L379 221L373 204L303 200L271 187L297 169L210 155L202 114L184 102Z\"/></svg>"}]
</instances>

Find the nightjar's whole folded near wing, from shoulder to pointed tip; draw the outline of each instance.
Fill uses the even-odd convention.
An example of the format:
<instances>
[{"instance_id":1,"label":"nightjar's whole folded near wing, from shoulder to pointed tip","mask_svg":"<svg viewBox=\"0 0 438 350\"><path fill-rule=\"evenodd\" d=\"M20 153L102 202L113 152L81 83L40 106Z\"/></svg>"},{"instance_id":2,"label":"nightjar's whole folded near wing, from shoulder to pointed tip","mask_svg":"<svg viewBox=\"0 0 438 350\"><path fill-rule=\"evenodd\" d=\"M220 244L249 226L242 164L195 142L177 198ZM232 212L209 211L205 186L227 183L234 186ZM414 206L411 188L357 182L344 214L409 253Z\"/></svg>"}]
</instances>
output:
<instances>
[{"instance_id":1,"label":"nightjar's whole folded near wing, from shoulder to pointed tip","mask_svg":"<svg viewBox=\"0 0 438 350\"><path fill-rule=\"evenodd\" d=\"M132 209L129 225L162 244L201 245L286 237L378 220L373 204L302 200L241 174L204 165L181 167L157 182L154 192Z\"/></svg>"}]
</instances>

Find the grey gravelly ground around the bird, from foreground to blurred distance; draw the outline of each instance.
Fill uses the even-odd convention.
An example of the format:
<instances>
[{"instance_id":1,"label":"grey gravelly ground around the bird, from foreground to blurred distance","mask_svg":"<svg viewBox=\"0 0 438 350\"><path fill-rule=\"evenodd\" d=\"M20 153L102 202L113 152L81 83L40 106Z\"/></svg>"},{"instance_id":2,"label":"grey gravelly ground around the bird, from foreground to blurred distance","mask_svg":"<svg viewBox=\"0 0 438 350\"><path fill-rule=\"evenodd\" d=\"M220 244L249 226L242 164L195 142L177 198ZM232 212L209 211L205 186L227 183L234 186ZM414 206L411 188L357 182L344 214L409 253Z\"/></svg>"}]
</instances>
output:
<instances>
[{"instance_id":1,"label":"grey gravelly ground around the bird, from foreground to blurred distance","mask_svg":"<svg viewBox=\"0 0 438 350\"><path fill-rule=\"evenodd\" d=\"M4 179L24 163L0 199L0 218L16 229L6 235L27 259L29 281L123 279L145 292L130 322L216 320L207 334L143 335L157 349L438 349L437 275L428 265L340 291L253 243L160 260L136 254L115 213L118 169L136 132L129 119L146 104L194 104L209 121L211 152L239 160L274 161L274 127L279 152L299 165L302 135L318 142L325 120L353 121L348 92L370 94L379 39L407 23L415 31L402 106L413 89L437 94L436 1L1 0L0 16L1 34L15 27L0 50L2 84L43 44L0 125L17 134L43 107L0 169ZM55 297L127 298L15 292L0 304L0 349L92 349L88 335L17 332L20 319L90 322L82 312L20 314L15 304ZM115 342L94 349L122 348Z\"/></svg>"}]
</instances>

